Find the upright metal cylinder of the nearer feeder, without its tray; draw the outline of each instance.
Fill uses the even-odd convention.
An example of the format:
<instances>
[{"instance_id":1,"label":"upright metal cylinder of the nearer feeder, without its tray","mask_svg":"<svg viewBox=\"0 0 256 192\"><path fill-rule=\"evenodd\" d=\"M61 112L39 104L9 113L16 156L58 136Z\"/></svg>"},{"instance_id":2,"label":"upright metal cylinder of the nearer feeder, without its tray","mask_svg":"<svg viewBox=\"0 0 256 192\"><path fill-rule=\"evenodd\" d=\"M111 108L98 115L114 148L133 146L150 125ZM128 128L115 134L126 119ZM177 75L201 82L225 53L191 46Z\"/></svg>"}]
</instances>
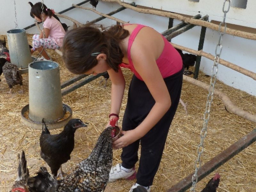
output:
<instances>
[{"instance_id":1,"label":"upright metal cylinder of the nearer feeder, without its tray","mask_svg":"<svg viewBox=\"0 0 256 192\"><path fill-rule=\"evenodd\" d=\"M28 65L29 118L36 122L55 122L63 113L59 64L35 61Z\"/></svg>"}]
</instances>

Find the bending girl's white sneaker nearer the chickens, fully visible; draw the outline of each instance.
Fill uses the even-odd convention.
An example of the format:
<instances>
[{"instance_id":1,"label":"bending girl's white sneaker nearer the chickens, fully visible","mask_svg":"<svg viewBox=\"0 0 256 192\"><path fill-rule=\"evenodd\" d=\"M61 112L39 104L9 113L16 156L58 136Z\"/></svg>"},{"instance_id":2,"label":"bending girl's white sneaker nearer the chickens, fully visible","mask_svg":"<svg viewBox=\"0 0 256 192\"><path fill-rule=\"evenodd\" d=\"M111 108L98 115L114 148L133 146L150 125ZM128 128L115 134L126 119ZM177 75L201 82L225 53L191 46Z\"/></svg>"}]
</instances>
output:
<instances>
[{"instance_id":1,"label":"bending girl's white sneaker nearer the chickens, fully visible","mask_svg":"<svg viewBox=\"0 0 256 192\"><path fill-rule=\"evenodd\" d=\"M116 164L116 166L111 167L108 182L113 182L118 179L135 179L135 176L133 176L133 174L136 175L135 166L132 168L131 172L126 172L121 169L121 164L118 163Z\"/></svg>"}]
</instances>

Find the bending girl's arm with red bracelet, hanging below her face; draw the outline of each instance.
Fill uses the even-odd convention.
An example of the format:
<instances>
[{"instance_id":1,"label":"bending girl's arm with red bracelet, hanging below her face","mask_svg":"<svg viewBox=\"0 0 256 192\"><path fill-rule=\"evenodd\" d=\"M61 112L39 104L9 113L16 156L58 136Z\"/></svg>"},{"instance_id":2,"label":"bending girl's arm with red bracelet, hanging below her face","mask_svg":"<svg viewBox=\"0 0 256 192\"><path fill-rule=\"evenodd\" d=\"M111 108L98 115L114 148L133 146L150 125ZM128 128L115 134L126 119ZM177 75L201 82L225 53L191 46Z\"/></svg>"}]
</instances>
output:
<instances>
[{"instance_id":1,"label":"bending girl's arm with red bracelet, hanging below her face","mask_svg":"<svg viewBox=\"0 0 256 192\"><path fill-rule=\"evenodd\" d=\"M125 88L124 75L119 67L118 72L115 72L112 68L108 70L111 84L111 108L110 113L119 115ZM112 119L114 116L110 117Z\"/></svg>"}]
</instances>

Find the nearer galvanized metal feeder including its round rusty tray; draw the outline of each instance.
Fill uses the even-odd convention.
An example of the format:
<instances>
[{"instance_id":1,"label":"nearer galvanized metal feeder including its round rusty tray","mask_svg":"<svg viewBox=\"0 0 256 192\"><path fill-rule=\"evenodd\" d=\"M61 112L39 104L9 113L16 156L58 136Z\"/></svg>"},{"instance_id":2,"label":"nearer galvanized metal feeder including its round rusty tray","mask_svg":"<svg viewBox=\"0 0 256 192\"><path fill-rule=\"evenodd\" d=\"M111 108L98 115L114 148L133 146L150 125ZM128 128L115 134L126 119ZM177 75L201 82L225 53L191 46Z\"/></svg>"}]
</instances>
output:
<instances>
[{"instance_id":1,"label":"nearer galvanized metal feeder including its round rusty tray","mask_svg":"<svg viewBox=\"0 0 256 192\"><path fill-rule=\"evenodd\" d=\"M62 103L59 64L35 61L28 65L29 105L21 110L21 121L42 129L42 119L48 129L63 127L72 118L71 108Z\"/></svg>"}]
</instances>

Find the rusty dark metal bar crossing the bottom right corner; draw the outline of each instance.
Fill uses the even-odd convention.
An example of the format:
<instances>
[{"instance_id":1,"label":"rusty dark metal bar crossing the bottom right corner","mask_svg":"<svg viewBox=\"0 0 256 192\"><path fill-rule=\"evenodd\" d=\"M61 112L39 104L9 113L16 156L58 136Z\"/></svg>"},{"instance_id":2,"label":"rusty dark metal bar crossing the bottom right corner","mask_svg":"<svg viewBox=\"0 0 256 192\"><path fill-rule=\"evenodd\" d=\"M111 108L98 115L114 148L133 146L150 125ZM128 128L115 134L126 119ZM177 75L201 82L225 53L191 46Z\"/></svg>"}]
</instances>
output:
<instances>
[{"instance_id":1,"label":"rusty dark metal bar crossing the bottom right corner","mask_svg":"<svg viewBox=\"0 0 256 192\"><path fill-rule=\"evenodd\" d=\"M226 163L229 159L234 157L236 154L241 152L243 149L251 145L253 142L256 141L256 129L252 132L248 133L246 136L242 137L236 143L231 145L229 148L222 151L219 155L213 157L210 161L205 163L198 169L197 177L198 180L202 180L206 177L209 173L213 172L215 169L220 167L222 164ZM168 189L167 192L184 192L188 188L192 186L192 175L191 173L186 178L181 180L179 183L172 186L172 188Z\"/></svg>"}]
</instances>

